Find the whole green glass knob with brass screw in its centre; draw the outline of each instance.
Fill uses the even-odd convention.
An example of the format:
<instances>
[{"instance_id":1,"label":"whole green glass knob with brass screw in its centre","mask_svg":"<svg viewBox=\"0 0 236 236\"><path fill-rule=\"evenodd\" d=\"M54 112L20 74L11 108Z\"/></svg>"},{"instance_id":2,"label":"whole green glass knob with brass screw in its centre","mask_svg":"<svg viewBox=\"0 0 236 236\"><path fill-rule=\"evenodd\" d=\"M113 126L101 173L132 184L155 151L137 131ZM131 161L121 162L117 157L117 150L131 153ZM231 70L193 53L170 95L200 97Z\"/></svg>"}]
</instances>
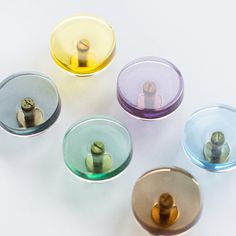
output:
<instances>
[{"instance_id":1,"label":"whole green glass knob with brass screw in its centre","mask_svg":"<svg viewBox=\"0 0 236 236\"><path fill-rule=\"evenodd\" d=\"M101 181L120 174L132 158L128 130L109 117L90 117L65 134L64 160L77 176Z\"/></svg>"}]
</instances>

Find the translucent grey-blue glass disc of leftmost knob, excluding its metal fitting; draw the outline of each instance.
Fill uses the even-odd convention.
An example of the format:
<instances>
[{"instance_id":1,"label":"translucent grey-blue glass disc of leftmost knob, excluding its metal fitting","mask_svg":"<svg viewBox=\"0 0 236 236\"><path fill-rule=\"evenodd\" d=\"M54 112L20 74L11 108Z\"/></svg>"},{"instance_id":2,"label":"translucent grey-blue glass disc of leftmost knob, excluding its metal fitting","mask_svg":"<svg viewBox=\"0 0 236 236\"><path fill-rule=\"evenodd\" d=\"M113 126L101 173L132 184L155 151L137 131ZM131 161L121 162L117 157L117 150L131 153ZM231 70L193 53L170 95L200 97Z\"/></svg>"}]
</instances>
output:
<instances>
[{"instance_id":1,"label":"translucent grey-blue glass disc of leftmost knob, excluding its metal fitting","mask_svg":"<svg viewBox=\"0 0 236 236\"><path fill-rule=\"evenodd\" d=\"M40 125L22 128L17 114L21 101L32 98L43 115ZM56 86L47 76L23 72L9 76L0 84L0 125L9 133L34 135L49 128L58 118L61 110L60 97Z\"/></svg>"}]
</instances>

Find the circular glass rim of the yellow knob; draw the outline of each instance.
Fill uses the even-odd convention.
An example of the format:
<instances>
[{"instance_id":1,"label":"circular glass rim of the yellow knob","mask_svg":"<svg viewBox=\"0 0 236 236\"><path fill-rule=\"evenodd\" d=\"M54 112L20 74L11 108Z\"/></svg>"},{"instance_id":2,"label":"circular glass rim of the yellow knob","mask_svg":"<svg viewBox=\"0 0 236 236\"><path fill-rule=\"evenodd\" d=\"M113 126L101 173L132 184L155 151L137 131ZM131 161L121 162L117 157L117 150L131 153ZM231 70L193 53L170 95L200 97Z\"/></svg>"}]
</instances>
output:
<instances>
[{"instance_id":1,"label":"circular glass rim of the yellow knob","mask_svg":"<svg viewBox=\"0 0 236 236\"><path fill-rule=\"evenodd\" d=\"M68 69L67 67L64 66L64 64L60 60L57 59L55 53L52 50L51 39L53 37L54 32L56 30L58 30L64 24L68 23L69 21L75 20L75 19L78 19L78 18L82 18L82 19L87 18L87 19L92 19L93 21L100 22L103 25L105 25L106 27L110 27L111 31L112 31L112 35L113 35L113 41L112 41L112 44L111 44L111 48L110 48L110 51L107 53L107 55L104 57L105 60L103 61L103 63L98 64L98 66L95 69L91 70L91 72L88 71L88 72L84 72L84 73L83 72L78 73L78 72L74 72L73 70ZM92 76L92 75L95 75L95 74L98 74L98 73L102 72L107 66L109 66L112 63L112 61L114 59L114 56L115 56L115 53L116 53L116 35L115 35L114 29L111 26L111 24L109 24L107 21L105 21L101 17L97 17L93 14L85 14L85 13L84 14L77 14L77 15L65 18L64 20L60 21L53 28L51 36L50 36L50 53L51 53L53 61L56 62L55 64L57 66L59 66L60 69L63 69L63 71L66 71L69 74L75 75L75 76L78 76L78 77ZM96 70L96 71L94 71L94 70Z\"/></svg>"}]
</instances>

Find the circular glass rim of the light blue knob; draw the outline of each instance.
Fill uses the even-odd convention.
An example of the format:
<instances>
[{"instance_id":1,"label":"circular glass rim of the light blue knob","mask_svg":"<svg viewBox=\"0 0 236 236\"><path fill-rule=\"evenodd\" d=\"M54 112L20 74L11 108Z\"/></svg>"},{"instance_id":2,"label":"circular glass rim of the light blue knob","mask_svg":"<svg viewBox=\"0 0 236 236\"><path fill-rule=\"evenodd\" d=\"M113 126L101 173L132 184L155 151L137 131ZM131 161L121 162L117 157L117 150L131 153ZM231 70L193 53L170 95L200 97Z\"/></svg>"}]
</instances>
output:
<instances>
[{"instance_id":1,"label":"circular glass rim of the light blue knob","mask_svg":"<svg viewBox=\"0 0 236 236\"><path fill-rule=\"evenodd\" d=\"M189 148L187 147L186 142L185 142L185 133L186 133L185 131L186 131L186 126L187 126L188 122L190 122L193 117L199 115L201 112L204 112L209 109L216 109L216 108L217 109L225 109L225 110L236 113L236 109L234 107L229 106L229 105L225 105L225 104L214 104L214 105L203 107L203 108L200 108L200 109L194 111L189 116L189 118L187 119L187 121L185 123L184 132L182 135L182 146L183 146L183 150L184 150L186 156L191 160L191 162L193 164L197 165L198 167L203 168L203 169L210 171L210 172L226 172L228 170L232 170L232 169L236 168L236 159L234 161L226 162L226 163L209 163L207 161L201 161L195 154L193 154L189 150Z\"/></svg>"}]
</instances>

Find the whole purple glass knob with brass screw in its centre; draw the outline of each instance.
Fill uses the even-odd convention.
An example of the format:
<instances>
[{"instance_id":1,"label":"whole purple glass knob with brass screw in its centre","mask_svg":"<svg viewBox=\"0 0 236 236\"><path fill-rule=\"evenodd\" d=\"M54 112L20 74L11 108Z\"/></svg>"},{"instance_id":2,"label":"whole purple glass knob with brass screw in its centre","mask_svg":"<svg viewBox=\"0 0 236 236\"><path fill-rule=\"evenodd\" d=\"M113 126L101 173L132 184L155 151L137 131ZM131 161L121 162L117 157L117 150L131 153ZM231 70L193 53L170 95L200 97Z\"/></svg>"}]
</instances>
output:
<instances>
[{"instance_id":1,"label":"whole purple glass knob with brass screw in its centre","mask_svg":"<svg viewBox=\"0 0 236 236\"><path fill-rule=\"evenodd\" d=\"M175 111L183 100L184 82L180 71L157 57L130 62L120 72L117 98L131 115L158 119Z\"/></svg>"}]
</instances>

